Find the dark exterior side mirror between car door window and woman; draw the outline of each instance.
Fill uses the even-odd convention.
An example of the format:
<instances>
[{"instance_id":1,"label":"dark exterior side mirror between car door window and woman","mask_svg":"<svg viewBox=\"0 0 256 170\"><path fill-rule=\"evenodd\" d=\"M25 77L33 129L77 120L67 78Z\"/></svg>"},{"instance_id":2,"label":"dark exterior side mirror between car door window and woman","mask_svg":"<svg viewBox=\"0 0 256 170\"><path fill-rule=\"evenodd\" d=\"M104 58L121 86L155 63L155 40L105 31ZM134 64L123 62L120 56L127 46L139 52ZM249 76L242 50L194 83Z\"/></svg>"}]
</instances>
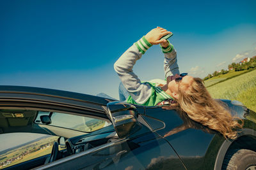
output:
<instances>
[{"instance_id":1,"label":"dark exterior side mirror between car door window and woman","mask_svg":"<svg viewBox=\"0 0 256 170\"><path fill-rule=\"evenodd\" d=\"M139 113L135 106L129 103L115 101L108 103L107 108L108 117L119 138L126 138L140 130L141 124L137 120Z\"/></svg>"}]
</instances>

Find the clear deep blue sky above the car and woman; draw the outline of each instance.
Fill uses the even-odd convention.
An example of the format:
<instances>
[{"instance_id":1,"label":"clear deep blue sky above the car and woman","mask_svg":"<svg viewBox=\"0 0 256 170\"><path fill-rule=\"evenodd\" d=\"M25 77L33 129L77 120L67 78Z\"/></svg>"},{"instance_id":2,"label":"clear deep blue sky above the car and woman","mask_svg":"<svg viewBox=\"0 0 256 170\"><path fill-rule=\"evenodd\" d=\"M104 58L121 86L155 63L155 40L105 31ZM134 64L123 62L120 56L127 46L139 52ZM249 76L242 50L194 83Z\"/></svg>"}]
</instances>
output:
<instances>
[{"instance_id":1,"label":"clear deep blue sky above the car and woman","mask_svg":"<svg viewBox=\"0 0 256 170\"><path fill-rule=\"evenodd\" d=\"M0 1L0 85L118 98L115 60L154 27L173 32L180 72L204 78L256 55L256 1ZM164 78L152 46L134 66Z\"/></svg>"}]
</instances>

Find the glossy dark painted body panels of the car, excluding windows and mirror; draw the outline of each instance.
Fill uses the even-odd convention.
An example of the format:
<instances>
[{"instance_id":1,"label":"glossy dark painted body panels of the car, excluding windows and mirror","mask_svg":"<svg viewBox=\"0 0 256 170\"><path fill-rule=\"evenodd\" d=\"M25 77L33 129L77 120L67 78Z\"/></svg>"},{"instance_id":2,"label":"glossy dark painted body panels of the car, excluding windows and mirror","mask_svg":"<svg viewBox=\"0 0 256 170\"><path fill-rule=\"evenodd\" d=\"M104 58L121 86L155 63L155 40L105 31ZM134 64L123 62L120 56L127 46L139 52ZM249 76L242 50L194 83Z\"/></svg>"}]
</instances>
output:
<instances>
[{"instance_id":1,"label":"glossy dark painted body panels of the car, excluding windows and mirror","mask_svg":"<svg viewBox=\"0 0 256 170\"><path fill-rule=\"evenodd\" d=\"M100 117L106 117L102 106L109 103L109 99L88 96L61 90L41 89L33 87L0 86L0 107L26 106L35 108L47 108L54 110L74 111L79 114L88 114L93 111ZM230 101L224 101L239 117L255 115L255 112L244 110L241 106L235 106ZM77 153L60 160L56 160L44 168L64 168L72 166L85 169L163 169L163 167L177 167L184 169L220 169L223 157L235 141L225 139L218 132L190 120L186 115L180 115L174 110L163 110L161 107L136 106L141 118L150 125L143 123L143 129L139 135L129 139L117 139L105 145L92 148L85 152ZM86 112L87 111L87 112ZM182 127L182 125L185 125ZM180 127L182 127L180 129ZM244 132L241 136L256 136L256 125L245 120ZM254 129L254 131L252 130ZM172 131L172 135L163 138L164 134ZM198 140L199 138L199 140ZM74 141L74 143L76 143ZM105 155L102 153L105 153ZM145 160L145 157L150 158ZM181 158L181 160L179 159ZM74 159L76 158L76 159ZM92 160L92 161L90 161ZM149 161L151 160L151 161ZM83 165L82 165L83 164ZM43 168L42 167L42 168Z\"/></svg>"}]
</instances>

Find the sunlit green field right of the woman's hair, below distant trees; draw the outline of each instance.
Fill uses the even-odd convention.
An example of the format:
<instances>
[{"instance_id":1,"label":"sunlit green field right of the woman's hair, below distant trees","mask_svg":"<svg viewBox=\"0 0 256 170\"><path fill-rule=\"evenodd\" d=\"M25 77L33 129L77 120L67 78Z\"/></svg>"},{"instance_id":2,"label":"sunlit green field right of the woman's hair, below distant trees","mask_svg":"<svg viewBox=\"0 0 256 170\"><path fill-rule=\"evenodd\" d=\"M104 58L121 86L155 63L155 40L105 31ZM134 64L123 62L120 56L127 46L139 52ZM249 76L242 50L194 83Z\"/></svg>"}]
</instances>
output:
<instances>
[{"instance_id":1,"label":"sunlit green field right of the woman's hair, below distant trees","mask_svg":"<svg viewBox=\"0 0 256 170\"><path fill-rule=\"evenodd\" d=\"M227 80L223 81L224 79ZM214 81L215 83L222 82L209 87ZM211 78L205 81L205 87L216 99L241 101L246 107L256 111L256 69L248 73L247 71L234 71Z\"/></svg>"}]
</instances>

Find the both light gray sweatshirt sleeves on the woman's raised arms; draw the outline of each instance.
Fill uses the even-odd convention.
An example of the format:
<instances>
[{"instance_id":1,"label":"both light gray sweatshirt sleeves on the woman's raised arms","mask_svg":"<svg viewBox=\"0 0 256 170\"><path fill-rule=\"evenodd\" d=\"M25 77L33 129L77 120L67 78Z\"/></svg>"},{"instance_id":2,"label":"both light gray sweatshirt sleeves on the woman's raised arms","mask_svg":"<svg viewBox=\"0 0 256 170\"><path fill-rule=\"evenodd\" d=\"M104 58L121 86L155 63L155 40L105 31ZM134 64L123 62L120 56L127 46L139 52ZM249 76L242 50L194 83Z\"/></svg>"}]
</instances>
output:
<instances>
[{"instance_id":1,"label":"both light gray sweatshirt sleeves on the woman's raised arms","mask_svg":"<svg viewBox=\"0 0 256 170\"><path fill-rule=\"evenodd\" d=\"M114 69L125 89L127 89L132 99L138 104L147 102L152 94L152 89L148 83L141 83L140 78L133 73L132 68L150 46L152 45L143 36L143 38L128 48L114 64ZM176 51L173 46L170 44L167 48L162 48L162 50L164 53L165 76L179 74Z\"/></svg>"}]
</instances>

